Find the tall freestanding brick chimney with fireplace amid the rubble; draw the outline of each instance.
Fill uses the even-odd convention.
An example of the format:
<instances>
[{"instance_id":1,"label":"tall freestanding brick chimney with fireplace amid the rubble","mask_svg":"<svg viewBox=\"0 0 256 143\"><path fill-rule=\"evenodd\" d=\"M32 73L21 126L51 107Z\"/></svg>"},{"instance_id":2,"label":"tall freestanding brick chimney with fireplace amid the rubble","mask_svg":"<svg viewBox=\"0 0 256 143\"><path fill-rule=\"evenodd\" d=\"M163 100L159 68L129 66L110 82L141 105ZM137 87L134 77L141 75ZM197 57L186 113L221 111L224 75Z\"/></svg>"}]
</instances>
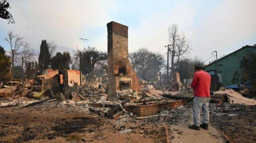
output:
<instances>
[{"instance_id":1,"label":"tall freestanding brick chimney with fireplace amid the rubble","mask_svg":"<svg viewBox=\"0 0 256 143\"><path fill-rule=\"evenodd\" d=\"M114 100L117 90L139 92L137 73L128 59L128 26L110 22L108 27L108 98Z\"/></svg>"}]
</instances>

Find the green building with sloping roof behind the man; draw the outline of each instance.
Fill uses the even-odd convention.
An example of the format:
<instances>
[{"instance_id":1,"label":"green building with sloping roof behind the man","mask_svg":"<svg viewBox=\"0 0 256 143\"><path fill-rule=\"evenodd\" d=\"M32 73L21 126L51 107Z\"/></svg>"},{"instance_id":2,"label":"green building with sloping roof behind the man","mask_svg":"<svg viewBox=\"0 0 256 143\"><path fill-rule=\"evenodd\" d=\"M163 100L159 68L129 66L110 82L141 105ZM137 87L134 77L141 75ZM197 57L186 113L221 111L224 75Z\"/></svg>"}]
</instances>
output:
<instances>
[{"instance_id":1,"label":"green building with sloping roof behind the man","mask_svg":"<svg viewBox=\"0 0 256 143\"><path fill-rule=\"evenodd\" d=\"M216 71L216 61L210 63L207 66L204 66L204 70L208 72L212 76L211 84L219 86L230 86L235 84L241 84L242 81L238 83L232 83L233 75L235 72L239 71L239 59L241 57L249 54L251 51L256 51L256 45L254 46L244 46L241 49L234 51L224 57L218 59L218 73L219 77L217 76ZM214 86L214 85L211 85ZM213 89L213 88L212 88Z\"/></svg>"}]
</instances>

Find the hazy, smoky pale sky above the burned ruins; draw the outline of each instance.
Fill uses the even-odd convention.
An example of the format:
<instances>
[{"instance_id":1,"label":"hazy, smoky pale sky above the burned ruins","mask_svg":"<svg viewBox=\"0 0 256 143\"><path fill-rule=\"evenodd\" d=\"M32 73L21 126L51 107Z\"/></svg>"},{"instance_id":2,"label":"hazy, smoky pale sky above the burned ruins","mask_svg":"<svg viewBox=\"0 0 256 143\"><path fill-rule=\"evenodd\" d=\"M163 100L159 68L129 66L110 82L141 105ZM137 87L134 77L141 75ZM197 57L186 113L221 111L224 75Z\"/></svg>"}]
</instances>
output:
<instances>
[{"instance_id":1,"label":"hazy, smoky pale sky above the burned ruins","mask_svg":"<svg viewBox=\"0 0 256 143\"><path fill-rule=\"evenodd\" d=\"M41 40L107 51L111 21L129 27L129 51L146 47L166 55L167 28L176 23L191 41L189 56L229 54L256 43L256 0L8 0L15 24L0 19L0 45L9 30L34 49ZM88 39L87 42L79 38Z\"/></svg>"}]
</instances>

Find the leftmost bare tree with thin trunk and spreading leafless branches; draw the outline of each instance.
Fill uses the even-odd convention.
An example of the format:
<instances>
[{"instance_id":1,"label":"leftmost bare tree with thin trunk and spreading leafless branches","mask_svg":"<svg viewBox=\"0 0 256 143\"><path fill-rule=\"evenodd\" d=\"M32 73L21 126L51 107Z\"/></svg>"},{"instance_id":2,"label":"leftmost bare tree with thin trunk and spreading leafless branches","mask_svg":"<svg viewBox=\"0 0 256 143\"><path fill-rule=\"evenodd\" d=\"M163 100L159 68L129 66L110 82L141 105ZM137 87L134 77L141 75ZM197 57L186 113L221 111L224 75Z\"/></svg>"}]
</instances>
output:
<instances>
[{"instance_id":1,"label":"leftmost bare tree with thin trunk and spreading leafless branches","mask_svg":"<svg viewBox=\"0 0 256 143\"><path fill-rule=\"evenodd\" d=\"M14 62L15 62L15 55L19 54L18 50L23 44L23 37L18 36L17 34L14 35L12 31L8 32L7 37L5 40L10 44L12 50L12 79L13 79L13 72L14 72Z\"/></svg>"}]
</instances>

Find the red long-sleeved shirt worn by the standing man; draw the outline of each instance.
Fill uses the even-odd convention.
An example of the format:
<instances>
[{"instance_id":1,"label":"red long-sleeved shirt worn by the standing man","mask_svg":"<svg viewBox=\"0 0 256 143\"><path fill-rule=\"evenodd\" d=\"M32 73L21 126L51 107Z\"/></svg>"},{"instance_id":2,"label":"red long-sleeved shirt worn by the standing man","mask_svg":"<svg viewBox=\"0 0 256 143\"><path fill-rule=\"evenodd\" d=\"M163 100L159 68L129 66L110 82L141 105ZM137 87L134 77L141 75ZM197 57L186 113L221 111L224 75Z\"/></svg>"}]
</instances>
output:
<instances>
[{"instance_id":1,"label":"red long-sleeved shirt worn by the standing man","mask_svg":"<svg viewBox=\"0 0 256 143\"><path fill-rule=\"evenodd\" d=\"M207 72L195 72L191 87L196 97L210 97L211 76Z\"/></svg>"}]
</instances>

